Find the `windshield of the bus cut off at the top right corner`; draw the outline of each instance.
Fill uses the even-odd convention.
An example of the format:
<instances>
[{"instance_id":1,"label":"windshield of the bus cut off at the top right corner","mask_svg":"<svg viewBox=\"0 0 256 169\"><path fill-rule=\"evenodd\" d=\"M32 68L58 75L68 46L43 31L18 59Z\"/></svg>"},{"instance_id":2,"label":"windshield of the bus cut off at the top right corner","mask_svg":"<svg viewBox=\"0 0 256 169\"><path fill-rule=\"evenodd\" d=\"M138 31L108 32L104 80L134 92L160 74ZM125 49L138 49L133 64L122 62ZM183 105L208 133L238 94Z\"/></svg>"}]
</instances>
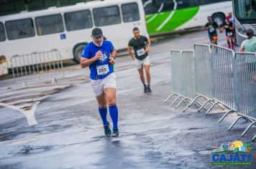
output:
<instances>
[{"instance_id":1,"label":"windshield of the bus cut off at the top right corner","mask_svg":"<svg viewBox=\"0 0 256 169\"><path fill-rule=\"evenodd\" d=\"M237 19L256 19L256 0L234 0L234 12Z\"/></svg>"}]
</instances>

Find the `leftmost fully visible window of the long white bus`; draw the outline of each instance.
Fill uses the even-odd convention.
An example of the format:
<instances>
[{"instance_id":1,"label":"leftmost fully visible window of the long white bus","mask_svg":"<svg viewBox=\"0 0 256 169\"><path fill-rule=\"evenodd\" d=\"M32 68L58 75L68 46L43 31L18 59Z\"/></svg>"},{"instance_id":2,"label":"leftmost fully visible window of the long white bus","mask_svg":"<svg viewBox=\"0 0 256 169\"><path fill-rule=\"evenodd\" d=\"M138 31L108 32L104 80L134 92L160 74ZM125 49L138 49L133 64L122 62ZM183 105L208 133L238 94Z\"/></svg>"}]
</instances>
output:
<instances>
[{"instance_id":1,"label":"leftmost fully visible window of the long white bus","mask_svg":"<svg viewBox=\"0 0 256 169\"><path fill-rule=\"evenodd\" d=\"M9 40L34 37L35 29L32 19L6 21L6 33Z\"/></svg>"}]
</instances>

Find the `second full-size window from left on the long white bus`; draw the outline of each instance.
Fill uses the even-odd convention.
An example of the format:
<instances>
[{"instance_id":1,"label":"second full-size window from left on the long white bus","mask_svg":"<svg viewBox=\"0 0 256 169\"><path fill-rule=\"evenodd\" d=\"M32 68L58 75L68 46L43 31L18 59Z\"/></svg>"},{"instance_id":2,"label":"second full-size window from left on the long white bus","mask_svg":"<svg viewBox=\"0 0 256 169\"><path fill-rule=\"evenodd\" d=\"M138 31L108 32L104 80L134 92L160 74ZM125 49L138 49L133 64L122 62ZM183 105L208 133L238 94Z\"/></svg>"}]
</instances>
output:
<instances>
[{"instance_id":1,"label":"second full-size window from left on the long white bus","mask_svg":"<svg viewBox=\"0 0 256 169\"><path fill-rule=\"evenodd\" d=\"M64 32L63 17L61 14L36 17L35 24L38 35Z\"/></svg>"}]
</instances>

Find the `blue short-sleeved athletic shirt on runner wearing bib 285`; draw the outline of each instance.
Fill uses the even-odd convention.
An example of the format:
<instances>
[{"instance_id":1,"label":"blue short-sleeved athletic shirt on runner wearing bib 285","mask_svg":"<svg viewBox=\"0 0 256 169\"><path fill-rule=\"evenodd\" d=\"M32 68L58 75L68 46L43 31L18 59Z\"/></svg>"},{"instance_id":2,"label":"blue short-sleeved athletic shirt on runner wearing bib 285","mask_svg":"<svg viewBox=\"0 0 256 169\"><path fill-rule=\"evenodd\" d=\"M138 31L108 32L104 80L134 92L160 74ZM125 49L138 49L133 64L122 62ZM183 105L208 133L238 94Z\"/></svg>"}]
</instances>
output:
<instances>
[{"instance_id":1,"label":"blue short-sleeved athletic shirt on runner wearing bib 285","mask_svg":"<svg viewBox=\"0 0 256 169\"><path fill-rule=\"evenodd\" d=\"M93 64L89 66L90 72L91 72L90 74L91 79L104 79L109 74L114 72L112 64L109 63L110 53L113 52L114 46L109 41L104 40L101 47L97 47L95 44L93 44L93 42L90 42L83 48L81 57L86 59L91 59L92 57L95 56L96 52L98 52L99 50L102 52L102 56L96 62L93 62ZM106 64L109 67L109 72L106 74L98 75L97 67L101 65L106 65Z\"/></svg>"}]
</instances>

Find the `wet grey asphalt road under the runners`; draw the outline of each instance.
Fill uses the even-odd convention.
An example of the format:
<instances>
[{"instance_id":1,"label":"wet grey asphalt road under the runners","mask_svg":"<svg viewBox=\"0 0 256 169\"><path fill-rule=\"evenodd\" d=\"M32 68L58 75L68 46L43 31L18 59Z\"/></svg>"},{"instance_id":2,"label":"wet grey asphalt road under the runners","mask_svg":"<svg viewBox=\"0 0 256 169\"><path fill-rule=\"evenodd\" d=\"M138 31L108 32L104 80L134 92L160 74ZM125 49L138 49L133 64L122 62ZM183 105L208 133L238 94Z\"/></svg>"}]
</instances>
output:
<instances>
[{"instance_id":1,"label":"wet grey asphalt road under the runners","mask_svg":"<svg viewBox=\"0 0 256 169\"><path fill-rule=\"evenodd\" d=\"M54 85L0 81L0 168L217 168L211 165L213 147L234 140L252 145L248 168L256 168L255 127L240 137L248 122L228 131L236 114L218 123L221 110L183 113L185 105L175 110L168 106L173 100L163 103L170 95L170 49L193 49L195 42L208 44L206 32L152 44L150 95L143 93L132 59L116 59L118 138L104 137L88 69L65 67L65 78Z\"/></svg>"}]
</instances>

